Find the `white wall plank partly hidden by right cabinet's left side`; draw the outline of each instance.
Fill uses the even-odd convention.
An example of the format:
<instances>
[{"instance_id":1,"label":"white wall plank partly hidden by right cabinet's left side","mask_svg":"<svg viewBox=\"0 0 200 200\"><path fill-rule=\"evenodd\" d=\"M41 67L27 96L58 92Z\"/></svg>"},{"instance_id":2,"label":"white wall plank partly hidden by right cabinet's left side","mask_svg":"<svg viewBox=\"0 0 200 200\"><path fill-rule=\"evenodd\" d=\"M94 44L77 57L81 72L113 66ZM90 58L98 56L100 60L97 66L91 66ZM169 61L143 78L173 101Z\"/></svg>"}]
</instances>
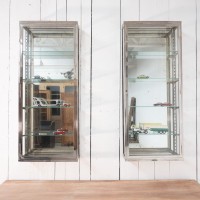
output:
<instances>
[{"instance_id":1,"label":"white wall plank partly hidden by right cabinet's left side","mask_svg":"<svg viewBox=\"0 0 200 200\"><path fill-rule=\"evenodd\" d=\"M121 1L121 27L124 21L137 21L139 20L139 1L138 0L122 0ZM122 40L122 34L121 34ZM122 49L122 43L120 44ZM122 63L122 62L121 62ZM120 80L121 84L121 80ZM121 93L121 92L120 92ZM122 108L122 101L120 102ZM122 109L121 112L122 113ZM122 130L122 117L120 115L120 179L121 180L137 180L139 178L138 161L125 161L123 156L123 130Z\"/></svg>"}]
</instances>

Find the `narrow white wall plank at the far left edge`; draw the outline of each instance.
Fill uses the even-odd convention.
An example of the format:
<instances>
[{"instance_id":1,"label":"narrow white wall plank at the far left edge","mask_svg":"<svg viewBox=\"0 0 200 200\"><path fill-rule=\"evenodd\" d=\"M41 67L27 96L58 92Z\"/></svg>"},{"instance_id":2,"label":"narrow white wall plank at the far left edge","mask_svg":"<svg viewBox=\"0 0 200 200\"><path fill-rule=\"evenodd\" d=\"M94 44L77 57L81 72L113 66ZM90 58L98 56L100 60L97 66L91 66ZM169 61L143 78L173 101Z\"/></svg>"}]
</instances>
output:
<instances>
[{"instance_id":1,"label":"narrow white wall plank at the far left edge","mask_svg":"<svg viewBox=\"0 0 200 200\"><path fill-rule=\"evenodd\" d=\"M0 98L1 134L0 134L0 184L8 178L8 84L9 84L9 2L0 1Z\"/></svg>"}]
</instances>

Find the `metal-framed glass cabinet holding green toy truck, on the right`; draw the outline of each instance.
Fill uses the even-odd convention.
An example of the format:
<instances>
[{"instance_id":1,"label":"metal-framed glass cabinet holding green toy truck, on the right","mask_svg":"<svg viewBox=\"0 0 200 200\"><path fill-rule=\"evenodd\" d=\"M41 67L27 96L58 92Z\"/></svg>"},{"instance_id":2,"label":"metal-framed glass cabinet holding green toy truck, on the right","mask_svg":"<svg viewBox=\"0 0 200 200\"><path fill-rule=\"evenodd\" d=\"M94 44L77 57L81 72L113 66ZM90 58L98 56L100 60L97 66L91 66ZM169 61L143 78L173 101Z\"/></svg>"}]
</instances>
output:
<instances>
[{"instance_id":1,"label":"metal-framed glass cabinet holding green toy truck, on the right","mask_svg":"<svg viewBox=\"0 0 200 200\"><path fill-rule=\"evenodd\" d=\"M180 159L181 22L124 22L122 72L125 158Z\"/></svg>"}]
</instances>

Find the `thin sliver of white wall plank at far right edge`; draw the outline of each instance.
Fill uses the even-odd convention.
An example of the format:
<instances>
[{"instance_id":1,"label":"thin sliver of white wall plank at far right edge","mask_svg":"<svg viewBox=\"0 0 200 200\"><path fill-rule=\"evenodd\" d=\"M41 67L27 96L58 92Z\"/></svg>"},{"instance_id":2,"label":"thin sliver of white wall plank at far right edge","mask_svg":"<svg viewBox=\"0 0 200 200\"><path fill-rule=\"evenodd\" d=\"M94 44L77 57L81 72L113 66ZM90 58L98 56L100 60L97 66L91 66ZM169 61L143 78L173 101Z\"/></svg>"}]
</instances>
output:
<instances>
[{"instance_id":1,"label":"thin sliver of white wall plank at far right edge","mask_svg":"<svg viewBox=\"0 0 200 200\"><path fill-rule=\"evenodd\" d=\"M200 2L197 2L197 180L200 183Z\"/></svg>"}]
</instances>

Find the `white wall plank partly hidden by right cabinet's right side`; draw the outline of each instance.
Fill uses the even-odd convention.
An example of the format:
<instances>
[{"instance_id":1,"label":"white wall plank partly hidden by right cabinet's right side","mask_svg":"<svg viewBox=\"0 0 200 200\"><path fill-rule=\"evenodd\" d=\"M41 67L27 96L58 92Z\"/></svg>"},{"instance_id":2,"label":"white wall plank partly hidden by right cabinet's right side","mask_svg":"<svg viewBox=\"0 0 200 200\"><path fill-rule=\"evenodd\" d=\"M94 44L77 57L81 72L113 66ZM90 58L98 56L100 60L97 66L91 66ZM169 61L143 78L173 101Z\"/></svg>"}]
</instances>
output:
<instances>
[{"instance_id":1,"label":"white wall plank partly hidden by right cabinet's right side","mask_svg":"<svg viewBox=\"0 0 200 200\"><path fill-rule=\"evenodd\" d=\"M170 162L170 178L196 178L196 4L169 0L170 20L182 21L183 161Z\"/></svg>"}]
</instances>

